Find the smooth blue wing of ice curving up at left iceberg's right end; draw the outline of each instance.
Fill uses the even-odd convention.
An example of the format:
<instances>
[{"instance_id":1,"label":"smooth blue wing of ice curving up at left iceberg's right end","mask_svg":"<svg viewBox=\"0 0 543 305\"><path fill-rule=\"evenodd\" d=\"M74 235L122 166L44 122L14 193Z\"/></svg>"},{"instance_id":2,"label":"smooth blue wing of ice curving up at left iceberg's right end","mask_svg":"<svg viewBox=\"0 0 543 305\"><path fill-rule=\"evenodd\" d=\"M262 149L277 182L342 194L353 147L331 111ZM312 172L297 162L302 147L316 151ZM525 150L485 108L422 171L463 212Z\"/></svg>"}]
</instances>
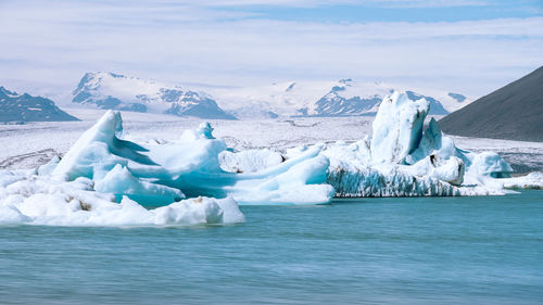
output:
<instances>
[{"instance_id":1,"label":"smooth blue wing of ice curving up at left iceberg's right end","mask_svg":"<svg viewBox=\"0 0 543 305\"><path fill-rule=\"evenodd\" d=\"M194 149L194 145L192 147ZM168 150L173 152L173 150ZM180 189L189 196L209 195L215 198L233 196L240 204L319 204L330 202L333 191L326 183L328 158L318 156L319 147L308 149L301 155L264 170L247 174L224 171L218 166L216 154L206 157L205 166L180 173L169 186ZM213 162L212 162L213 160ZM303 188L312 185L311 188ZM281 191L298 188L295 198ZM326 191L315 192L316 189ZM323 194L326 196L323 198ZM302 195L299 195L302 194ZM304 198L303 202L298 199Z\"/></svg>"}]
</instances>

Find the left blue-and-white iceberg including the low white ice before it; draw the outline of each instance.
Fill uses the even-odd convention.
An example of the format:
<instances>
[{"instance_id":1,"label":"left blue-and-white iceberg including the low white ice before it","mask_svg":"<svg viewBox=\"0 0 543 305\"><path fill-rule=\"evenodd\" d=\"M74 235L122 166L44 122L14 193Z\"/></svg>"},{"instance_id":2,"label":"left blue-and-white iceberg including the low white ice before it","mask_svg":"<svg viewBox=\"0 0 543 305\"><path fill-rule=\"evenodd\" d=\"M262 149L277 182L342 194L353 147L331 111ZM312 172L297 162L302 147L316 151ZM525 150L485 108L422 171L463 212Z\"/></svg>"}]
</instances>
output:
<instances>
[{"instance_id":1,"label":"left blue-and-white iceberg including the low white ice before it","mask_svg":"<svg viewBox=\"0 0 543 305\"><path fill-rule=\"evenodd\" d=\"M0 170L0 224L233 224L244 221L240 204L329 203L334 190L321 149L289 160L273 151L233 153L209 123L174 141L137 143L125 138L121 113L109 111L64 157Z\"/></svg>"}]
</instances>

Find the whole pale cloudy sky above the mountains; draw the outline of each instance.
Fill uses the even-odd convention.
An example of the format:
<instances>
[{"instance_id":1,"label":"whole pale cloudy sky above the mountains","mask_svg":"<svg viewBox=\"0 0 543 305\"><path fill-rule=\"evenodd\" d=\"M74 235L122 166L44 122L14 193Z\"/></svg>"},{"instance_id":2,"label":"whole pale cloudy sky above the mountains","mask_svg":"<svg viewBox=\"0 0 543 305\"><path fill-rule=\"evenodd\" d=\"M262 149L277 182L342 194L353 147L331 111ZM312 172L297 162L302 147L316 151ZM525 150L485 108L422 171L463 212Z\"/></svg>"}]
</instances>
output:
<instances>
[{"instance_id":1,"label":"whole pale cloudy sky above the mountains","mask_svg":"<svg viewBox=\"0 0 543 305\"><path fill-rule=\"evenodd\" d=\"M543 65L543 0L0 0L0 86L386 81L487 94Z\"/></svg>"}]
</instances>

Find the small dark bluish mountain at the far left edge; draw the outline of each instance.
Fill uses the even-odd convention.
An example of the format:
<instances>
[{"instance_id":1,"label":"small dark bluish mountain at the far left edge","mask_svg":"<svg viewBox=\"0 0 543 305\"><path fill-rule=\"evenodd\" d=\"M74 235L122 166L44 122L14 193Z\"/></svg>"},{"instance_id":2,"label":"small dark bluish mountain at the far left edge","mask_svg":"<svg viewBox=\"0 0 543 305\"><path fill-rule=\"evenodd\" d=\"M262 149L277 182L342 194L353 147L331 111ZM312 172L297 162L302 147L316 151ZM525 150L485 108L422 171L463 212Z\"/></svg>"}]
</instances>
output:
<instances>
[{"instance_id":1,"label":"small dark bluish mountain at the far left edge","mask_svg":"<svg viewBox=\"0 0 543 305\"><path fill-rule=\"evenodd\" d=\"M78 120L60 110L53 101L33 97L28 93L17 94L0 87L0 122L56 122Z\"/></svg>"}]
</instances>

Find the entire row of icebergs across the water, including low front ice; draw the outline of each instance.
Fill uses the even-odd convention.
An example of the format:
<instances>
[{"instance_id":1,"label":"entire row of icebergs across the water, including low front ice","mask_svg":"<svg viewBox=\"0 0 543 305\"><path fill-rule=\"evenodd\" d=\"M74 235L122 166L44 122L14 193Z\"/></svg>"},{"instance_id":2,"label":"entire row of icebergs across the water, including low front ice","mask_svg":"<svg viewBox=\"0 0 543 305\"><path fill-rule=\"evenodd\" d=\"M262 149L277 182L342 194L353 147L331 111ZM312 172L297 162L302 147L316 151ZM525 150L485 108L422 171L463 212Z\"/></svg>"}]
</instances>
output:
<instances>
[{"instance_id":1,"label":"entire row of icebergs across the water, including low front ice","mask_svg":"<svg viewBox=\"0 0 543 305\"><path fill-rule=\"evenodd\" d=\"M0 224L191 226L243 223L239 205L326 204L333 198L503 195L543 189L510 178L496 153L456 148L430 104L384 98L371 137L236 152L209 123L175 140L126 136L108 112L60 158L0 170ZM188 198L188 199L186 199ZM146 208L154 206L153 209Z\"/></svg>"}]
</instances>

